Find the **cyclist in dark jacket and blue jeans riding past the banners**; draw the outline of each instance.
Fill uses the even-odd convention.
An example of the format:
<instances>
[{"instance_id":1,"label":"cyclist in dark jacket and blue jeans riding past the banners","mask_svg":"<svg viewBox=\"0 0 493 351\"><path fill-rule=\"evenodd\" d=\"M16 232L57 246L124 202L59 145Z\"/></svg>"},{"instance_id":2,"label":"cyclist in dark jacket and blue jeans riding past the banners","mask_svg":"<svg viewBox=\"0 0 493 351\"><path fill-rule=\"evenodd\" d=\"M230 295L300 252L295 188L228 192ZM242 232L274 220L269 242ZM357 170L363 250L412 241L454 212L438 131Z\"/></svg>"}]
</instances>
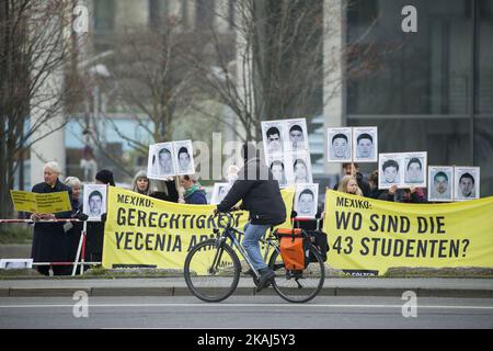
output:
<instances>
[{"instance_id":1,"label":"cyclist in dark jacket and blue jeans riding past the banners","mask_svg":"<svg viewBox=\"0 0 493 351\"><path fill-rule=\"evenodd\" d=\"M260 158L260 152L251 143L241 150L244 166L238 172L238 179L217 206L218 212L227 212L240 200L240 210L249 211L249 223L244 227L243 247L253 268L261 274L256 291L271 285L274 272L262 258L259 241L271 226L286 220L286 206L279 191L279 184L273 173ZM255 282L255 278L254 278ZM255 282L256 283L256 282Z\"/></svg>"}]
</instances>

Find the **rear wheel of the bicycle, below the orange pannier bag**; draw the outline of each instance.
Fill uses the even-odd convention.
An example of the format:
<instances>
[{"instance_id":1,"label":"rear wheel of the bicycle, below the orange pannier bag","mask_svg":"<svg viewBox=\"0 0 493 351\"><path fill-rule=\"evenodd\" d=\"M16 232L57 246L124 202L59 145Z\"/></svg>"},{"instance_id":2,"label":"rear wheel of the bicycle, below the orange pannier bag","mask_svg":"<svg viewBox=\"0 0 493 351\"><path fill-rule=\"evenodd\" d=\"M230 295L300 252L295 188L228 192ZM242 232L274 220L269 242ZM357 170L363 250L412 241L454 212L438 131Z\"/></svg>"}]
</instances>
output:
<instances>
[{"instance_id":1,"label":"rear wheel of the bicycle, below the orange pannier bag","mask_svg":"<svg viewBox=\"0 0 493 351\"><path fill-rule=\"evenodd\" d=\"M300 272L287 271L277 250L271 256L268 265L275 273L272 285L280 297L290 303L309 302L319 294L325 281L322 257L314 246L310 245L309 250L314 262Z\"/></svg>"}]
</instances>

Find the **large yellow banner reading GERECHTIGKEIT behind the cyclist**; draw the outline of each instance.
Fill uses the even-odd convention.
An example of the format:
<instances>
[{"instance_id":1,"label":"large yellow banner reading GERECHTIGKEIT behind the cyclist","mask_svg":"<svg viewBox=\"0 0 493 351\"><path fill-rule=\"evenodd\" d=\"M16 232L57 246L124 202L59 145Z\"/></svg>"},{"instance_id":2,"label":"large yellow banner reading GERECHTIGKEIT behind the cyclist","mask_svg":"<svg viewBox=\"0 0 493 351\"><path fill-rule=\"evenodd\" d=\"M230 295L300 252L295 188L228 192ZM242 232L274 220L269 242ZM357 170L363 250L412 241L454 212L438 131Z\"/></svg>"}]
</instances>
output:
<instances>
[{"instance_id":1,"label":"large yellow banner reading GERECHTIGKEIT behind the cyclist","mask_svg":"<svg viewBox=\"0 0 493 351\"><path fill-rule=\"evenodd\" d=\"M295 189L282 190L289 227ZM176 204L108 186L103 267L183 269L190 249L214 238L216 205ZM232 213L243 230L248 212ZM214 252L211 252L214 254ZM241 259L241 257L240 257Z\"/></svg>"}]
</instances>

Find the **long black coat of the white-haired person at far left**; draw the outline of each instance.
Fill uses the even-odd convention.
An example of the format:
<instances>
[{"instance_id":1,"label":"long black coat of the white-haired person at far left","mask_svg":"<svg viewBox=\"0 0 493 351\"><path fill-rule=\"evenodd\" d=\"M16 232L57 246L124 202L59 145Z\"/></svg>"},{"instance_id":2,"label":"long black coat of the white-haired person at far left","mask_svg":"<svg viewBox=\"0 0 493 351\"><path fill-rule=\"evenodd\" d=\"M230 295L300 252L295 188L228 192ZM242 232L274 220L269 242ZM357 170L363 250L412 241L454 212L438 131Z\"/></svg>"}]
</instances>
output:
<instances>
[{"instance_id":1,"label":"long black coat of the white-haired person at far left","mask_svg":"<svg viewBox=\"0 0 493 351\"><path fill-rule=\"evenodd\" d=\"M72 190L58 179L54 188L47 183L33 186L33 193L57 193L68 191L71 201ZM71 212L56 213L56 218L70 218ZM36 223L34 225L33 246L31 257L34 262L67 262L69 259L70 241L64 231L64 223Z\"/></svg>"}]
</instances>

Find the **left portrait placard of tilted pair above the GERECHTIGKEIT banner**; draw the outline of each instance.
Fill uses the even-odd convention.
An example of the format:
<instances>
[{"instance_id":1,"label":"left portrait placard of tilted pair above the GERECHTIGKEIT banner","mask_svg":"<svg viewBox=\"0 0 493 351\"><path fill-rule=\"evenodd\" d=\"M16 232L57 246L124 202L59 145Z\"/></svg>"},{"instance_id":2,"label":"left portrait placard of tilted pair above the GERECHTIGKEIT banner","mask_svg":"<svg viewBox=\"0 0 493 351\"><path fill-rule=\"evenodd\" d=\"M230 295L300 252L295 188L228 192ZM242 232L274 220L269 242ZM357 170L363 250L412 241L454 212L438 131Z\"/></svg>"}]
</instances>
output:
<instances>
[{"instance_id":1,"label":"left portrait placard of tilted pair above the GERECHTIGKEIT banner","mask_svg":"<svg viewBox=\"0 0 493 351\"><path fill-rule=\"evenodd\" d=\"M149 159L147 163L149 179L164 180L176 174L173 143L149 145Z\"/></svg>"}]
</instances>

